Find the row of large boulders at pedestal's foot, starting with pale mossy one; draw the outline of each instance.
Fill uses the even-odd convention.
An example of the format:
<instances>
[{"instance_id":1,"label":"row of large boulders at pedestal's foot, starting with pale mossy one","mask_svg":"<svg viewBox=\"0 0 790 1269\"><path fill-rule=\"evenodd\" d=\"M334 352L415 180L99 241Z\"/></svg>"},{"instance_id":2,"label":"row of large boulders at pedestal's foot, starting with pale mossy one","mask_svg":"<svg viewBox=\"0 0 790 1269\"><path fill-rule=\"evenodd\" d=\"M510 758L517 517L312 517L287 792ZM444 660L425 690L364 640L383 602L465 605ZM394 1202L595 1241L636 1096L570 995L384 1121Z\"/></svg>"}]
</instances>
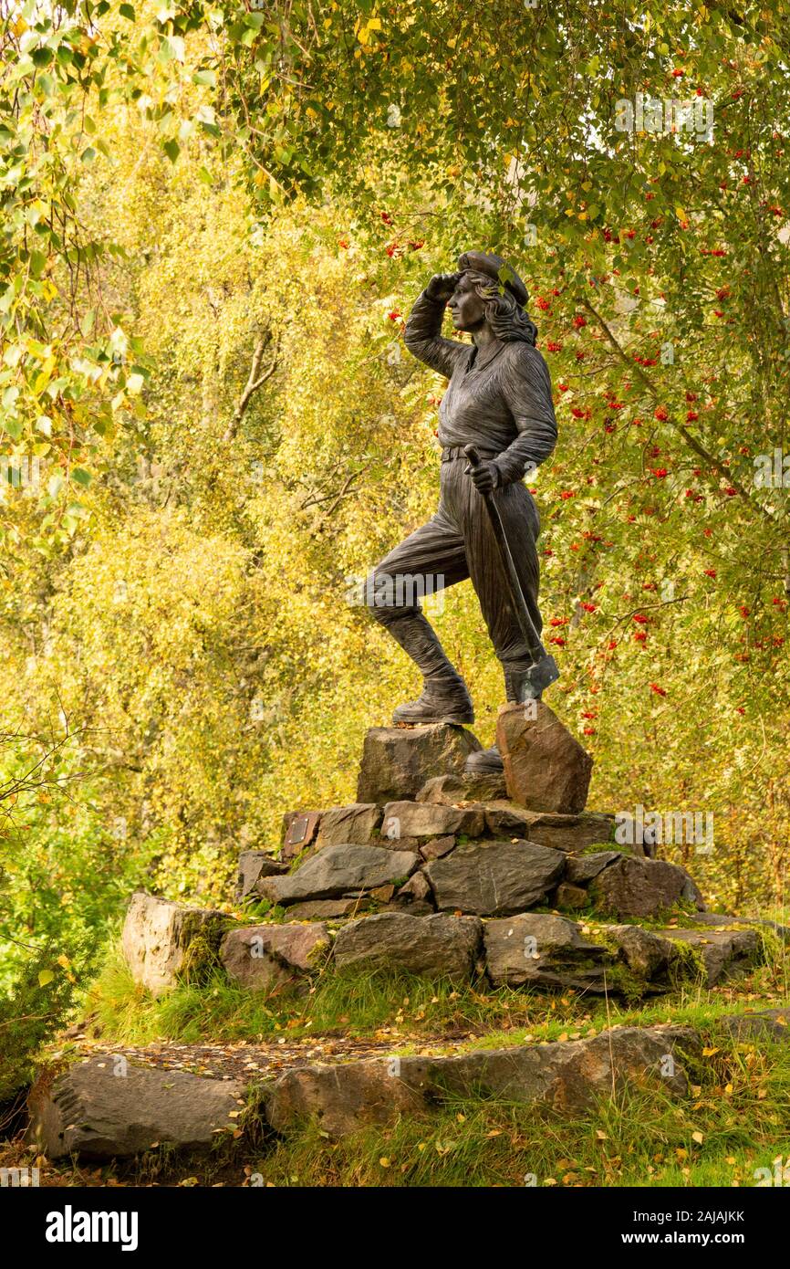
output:
<instances>
[{"instance_id":1,"label":"row of large boulders at pedestal's foot, starting with pale mossy one","mask_svg":"<svg viewBox=\"0 0 790 1269\"><path fill-rule=\"evenodd\" d=\"M326 860L331 849L317 855L314 863ZM387 860L397 855L384 850L380 854ZM181 920L178 905L155 896L134 896L123 948L136 981L153 985L156 992L180 981L185 966L195 962L185 942L186 917L193 923L204 967L222 966L232 981L265 992L284 986L307 989L314 975L331 967L341 973L373 970L460 981L483 975L495 989L574 990L639 999L671 991L681 981L713 986L748 968L762 954L757 928L653 930L530 911L483 919L454 912L383 911L332 924L311 920L256 925L227 916L218 925L217 914L205 912L212 923L207 943L207 921L195 919L195 914L200 910L184 909Z\"/></svg>"}]
</instances>

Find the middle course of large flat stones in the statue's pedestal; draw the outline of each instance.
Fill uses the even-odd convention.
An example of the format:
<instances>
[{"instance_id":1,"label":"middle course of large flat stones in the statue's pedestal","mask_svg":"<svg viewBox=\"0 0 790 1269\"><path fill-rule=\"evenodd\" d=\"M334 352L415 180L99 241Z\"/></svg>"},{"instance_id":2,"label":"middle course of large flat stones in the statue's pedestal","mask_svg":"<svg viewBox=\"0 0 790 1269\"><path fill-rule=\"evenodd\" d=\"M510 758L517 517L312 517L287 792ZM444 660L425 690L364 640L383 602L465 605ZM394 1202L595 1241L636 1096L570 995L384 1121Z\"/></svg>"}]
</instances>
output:
<instances>
[{"instance_id":1,"label":"middle course of large flat stones in the statue's pedestal","mask_svg":"<svg viewBox=\"0 0 790 1269\"><path fill-rule=\"evenodd\" d=\"M303 902L370 898L382 886L397 884L396 901L421 911L460 911L473 916L507 916L539 905L577 910L590 907L618 920L653 917L681 904L704 909L689 873L677 864L604 849L574 854L533 838L493 838L502 829L497 816L508 811L484 806L454 807L422 802L389 802L382 829L392 836L375 843L337 843L304 854L288 873L264 867L247 895L289 907ZM547 817L540 817L547 819ZM515 825L507 824L506 827ZM519 827L524 827L519 824ZM585 836L591 830L582 826ZM564 826L529 827L553 839ZM257 863L240 874L252 877ZM415 872L424 879L405 886ZM415 909L416 910L416 909Z\"/></svg>"}]
</instances>

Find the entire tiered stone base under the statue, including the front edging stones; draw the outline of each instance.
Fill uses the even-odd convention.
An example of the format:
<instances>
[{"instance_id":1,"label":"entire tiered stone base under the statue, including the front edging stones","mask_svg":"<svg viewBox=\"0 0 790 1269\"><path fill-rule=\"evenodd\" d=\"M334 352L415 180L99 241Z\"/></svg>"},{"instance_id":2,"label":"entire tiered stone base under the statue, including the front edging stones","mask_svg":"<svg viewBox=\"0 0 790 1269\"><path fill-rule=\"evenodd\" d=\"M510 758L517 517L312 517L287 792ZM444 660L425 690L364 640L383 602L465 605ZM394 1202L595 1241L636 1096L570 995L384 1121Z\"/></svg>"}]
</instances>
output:
<instances>
[{"instance_id":1,"label":"entire tiered stone base under the statue, including the front edging stones","mask_svg":"<svg viewBox=\"0 0 790 1269\"><path fill-rule=\"evenodd\" d=\"M503 777L473 778L464 764L481 746L464 727L372 728L356 802L290 811L276 853L241 854L236 905L254 917L132 896L123 950L134 980L159 996L221 967L282 996L327 973L380 971L639 1000L686 981L713 986L765 954L771 923L708 911L683 868L619 844L615 816L586 810L592 760L548 706L505 707L497 742ZM779 1013L727 1024L784 1039ZM118 1080L123 1057L94 1055L42 1076L30 1138L51 1157L204 1148L240 1136L250 1100L273 1133L313 1118L339 1136L481 1089L577 1114L629 1082L689 1095L683 1062L700 1047L689 1027L615 1027L451 1056L302 1061L256 1084L139 1062Z\"/></svg>"}]
</instances>

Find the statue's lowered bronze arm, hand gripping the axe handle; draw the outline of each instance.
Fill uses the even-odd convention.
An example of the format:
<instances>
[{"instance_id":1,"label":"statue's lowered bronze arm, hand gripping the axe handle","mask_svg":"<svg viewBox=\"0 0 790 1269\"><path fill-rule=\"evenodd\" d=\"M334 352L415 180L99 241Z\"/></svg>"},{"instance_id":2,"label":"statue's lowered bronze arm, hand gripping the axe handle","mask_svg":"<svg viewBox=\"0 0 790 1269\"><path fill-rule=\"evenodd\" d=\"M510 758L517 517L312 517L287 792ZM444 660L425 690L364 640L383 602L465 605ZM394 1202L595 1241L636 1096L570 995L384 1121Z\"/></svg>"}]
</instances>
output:
<instances>
[{"instance_id":1,"label":"statue's lowered bronze arm, hand gripping the axe handle","mask_svg":"<svg viewBox=\"0 0 790 1269\"><path fill-rule=\"evenodd\" d=\"M495 463L500 485L510 485L549 457L557 444L557 419L547 364L531 346L519 345L502 386L519 435Z\"/></svg>"}]
</instances>

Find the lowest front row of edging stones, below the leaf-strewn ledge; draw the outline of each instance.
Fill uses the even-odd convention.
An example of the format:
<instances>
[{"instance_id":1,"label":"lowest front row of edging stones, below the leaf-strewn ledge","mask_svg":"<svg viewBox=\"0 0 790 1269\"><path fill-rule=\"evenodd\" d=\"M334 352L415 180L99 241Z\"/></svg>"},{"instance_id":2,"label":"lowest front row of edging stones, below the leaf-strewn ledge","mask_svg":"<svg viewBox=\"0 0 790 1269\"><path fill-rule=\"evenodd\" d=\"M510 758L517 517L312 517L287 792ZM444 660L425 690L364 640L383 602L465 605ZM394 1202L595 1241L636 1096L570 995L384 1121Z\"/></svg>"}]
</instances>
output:
<instances>
[{"instance_id":1,"label":"lowest front row of edging stones, below the leaf-strewn ledge","mask_svg":"<svg viewBox=\"0 0 790 1269\"><path fill-rule=\"evenodd\" d=\"M732 1014L715 1023L738 1043L790 1041L790 1009ZM48 1159L129 1159L156 1147L245 1148L245 1108L255 1112L256 1142L264 1127L282 1133L313 1122L332 1138L403 1114L430 1115L458 1096L550 1104L566 1115L585 1114L597 1099L626 1088L696 1094L685 1063L701 1056L705 1039L692 1027L614 1027L583 1039L463 1049L435 1056L382 1056L313 1061L282 1070L265 1062L262 1076L222 1079L145 1063L145 1052L99 1052L66 1070L44 1068L29 1095L27 1140ZM155 1062L162 1060L156 1046ZM183 1048L176 1046L180 1057ZM278 1055L279 1058L279 1055ZM273 1074L268 1075L266 1070ZM271 1143L276 1141L270 1137Z\"/></svg>"}]
</instances>

